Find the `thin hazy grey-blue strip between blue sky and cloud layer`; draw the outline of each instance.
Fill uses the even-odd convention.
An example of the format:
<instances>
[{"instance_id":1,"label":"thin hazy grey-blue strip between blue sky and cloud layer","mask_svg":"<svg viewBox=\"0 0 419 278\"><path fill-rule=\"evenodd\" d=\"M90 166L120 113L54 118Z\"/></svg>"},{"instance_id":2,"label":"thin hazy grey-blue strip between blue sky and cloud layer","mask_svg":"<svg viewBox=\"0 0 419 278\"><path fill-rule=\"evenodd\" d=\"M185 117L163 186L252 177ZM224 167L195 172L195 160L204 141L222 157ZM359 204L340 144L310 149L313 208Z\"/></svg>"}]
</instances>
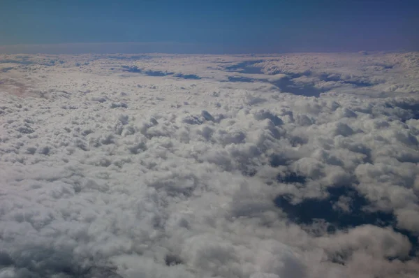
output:
<instances>
[{"instance_id":1,"label":"thin hazy grey-blue strip between blue sky and cloud layer","mask_svg":"<svg viewBox=\"0 0 419 278\"><path fill-rule=\"evenodd\" d=\"M167 42L19 43L0 44L0 54L286 54L286 53L406 53L419 50L344 50L342 47L275 47L277 51L251 51L253 47Z\"/></svg>"}]
</instances>

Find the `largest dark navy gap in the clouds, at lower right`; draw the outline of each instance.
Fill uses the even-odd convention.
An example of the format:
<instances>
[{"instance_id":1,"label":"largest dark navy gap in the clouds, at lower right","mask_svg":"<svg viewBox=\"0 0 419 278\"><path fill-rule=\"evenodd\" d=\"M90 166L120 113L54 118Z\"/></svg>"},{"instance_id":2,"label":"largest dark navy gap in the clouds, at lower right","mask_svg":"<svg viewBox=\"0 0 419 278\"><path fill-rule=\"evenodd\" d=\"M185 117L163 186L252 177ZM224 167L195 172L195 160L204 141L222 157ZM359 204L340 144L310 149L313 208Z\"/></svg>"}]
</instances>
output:
<instances>
[{"instance_id":1,"label":"largest dark navy gap in the clouds, at lower right","mask_svg":"<svg viewBox=\"0 0 419 278\"><path fill-rule=\"evenodd\" d=\"M305 177L291 173L278 175L278 180L284 183L304 183ZM391 226L395 231L406 235L412 244L410 256L416 257L419 251L418 235L397 228L396 217L392 212L368 210L369 201L352 186L329 187L328 198L306 198L300 203L293 202L293 196L281 195L274 199L275 205L281 208L288 219L303 225L311 225L318 219L326 221L328 233L345 230L366 224L379 227ZM345 208L340 204L344 203Z\"/></svg>"}]
</instances>

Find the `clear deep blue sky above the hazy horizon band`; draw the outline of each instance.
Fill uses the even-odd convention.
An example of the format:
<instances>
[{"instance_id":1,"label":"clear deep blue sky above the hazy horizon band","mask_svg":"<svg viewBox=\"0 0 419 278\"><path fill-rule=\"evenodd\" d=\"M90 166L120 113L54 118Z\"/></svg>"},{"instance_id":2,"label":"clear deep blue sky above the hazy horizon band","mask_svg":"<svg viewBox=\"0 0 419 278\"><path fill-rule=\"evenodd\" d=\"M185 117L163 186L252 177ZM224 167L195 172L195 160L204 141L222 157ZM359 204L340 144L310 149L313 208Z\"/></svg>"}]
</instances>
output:
<instances>
[{"instance_id":1,"label":"clear deep blue sky above the hazy horizon band","mask_svg":"<svg viewBox=\"0 0 419 278\"><path fill-rule=\"evenodd\" d=\"M418 13L419 1L410 0L2 0L0 45L170 42L185 45L186 52L419 50Z\"/></svg>"}]
</instances>

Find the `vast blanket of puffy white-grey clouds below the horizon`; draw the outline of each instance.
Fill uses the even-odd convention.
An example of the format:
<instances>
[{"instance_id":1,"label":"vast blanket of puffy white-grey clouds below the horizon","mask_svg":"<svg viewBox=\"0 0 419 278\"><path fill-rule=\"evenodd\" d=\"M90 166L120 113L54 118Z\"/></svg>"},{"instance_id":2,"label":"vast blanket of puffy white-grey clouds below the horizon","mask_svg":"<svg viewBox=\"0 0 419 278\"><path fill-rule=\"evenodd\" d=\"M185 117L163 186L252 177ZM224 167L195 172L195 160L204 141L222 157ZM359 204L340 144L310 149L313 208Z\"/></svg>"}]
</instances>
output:
<instances>
[{"instance_id":1,"label":"vast blanket of puffy white-grey clouds below the horizon","mask_svg":"<svg viewBox=\"0 0 419 278\"><path fill-rule=\"evenodd\" d=\"M1 60L0 277L418 275L417 54Z\"/></svg>"}]
</instances>

